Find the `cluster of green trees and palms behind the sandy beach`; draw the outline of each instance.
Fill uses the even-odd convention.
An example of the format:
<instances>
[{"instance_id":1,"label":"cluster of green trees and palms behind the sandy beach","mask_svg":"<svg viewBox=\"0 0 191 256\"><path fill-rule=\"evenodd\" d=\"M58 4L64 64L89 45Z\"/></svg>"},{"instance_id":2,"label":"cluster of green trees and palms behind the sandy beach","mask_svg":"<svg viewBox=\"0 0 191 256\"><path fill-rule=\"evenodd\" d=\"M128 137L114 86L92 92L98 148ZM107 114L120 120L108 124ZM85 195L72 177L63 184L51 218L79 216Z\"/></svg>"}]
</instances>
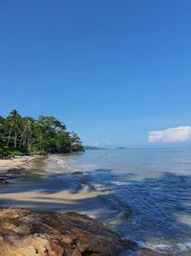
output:
<instances>
[{"instance_id":1,"label":"cluster of green trees and palms behind the sandy beach","mask_svg":"<svg viewBox=\"0 0 191 256\"><path fill-rule=\"evenodd\" d=\"M84 151L77 134L53 116L22 117L16 109L0 116L0 154Z\"/></svg>"}]
</instances>

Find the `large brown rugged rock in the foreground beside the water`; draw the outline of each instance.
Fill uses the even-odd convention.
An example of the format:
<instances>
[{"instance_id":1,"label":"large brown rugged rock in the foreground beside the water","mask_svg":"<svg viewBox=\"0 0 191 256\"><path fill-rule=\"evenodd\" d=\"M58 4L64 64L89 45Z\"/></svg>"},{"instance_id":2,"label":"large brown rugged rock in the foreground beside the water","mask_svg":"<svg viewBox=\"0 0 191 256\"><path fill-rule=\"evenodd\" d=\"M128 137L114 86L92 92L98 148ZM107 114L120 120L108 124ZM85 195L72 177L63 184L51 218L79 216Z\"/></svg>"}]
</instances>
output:
<instances>
[{"instance_id":1,"label":"large brown rugged rock in the foreground beside the water","mask_svg":"<svg viewBox=\"0 0 191 256\"><path fill-rule=\"evenodd\" d=\"M114 256L137 244L76 213L0 210L0 256Z\"/></svg>"}]
</instances>

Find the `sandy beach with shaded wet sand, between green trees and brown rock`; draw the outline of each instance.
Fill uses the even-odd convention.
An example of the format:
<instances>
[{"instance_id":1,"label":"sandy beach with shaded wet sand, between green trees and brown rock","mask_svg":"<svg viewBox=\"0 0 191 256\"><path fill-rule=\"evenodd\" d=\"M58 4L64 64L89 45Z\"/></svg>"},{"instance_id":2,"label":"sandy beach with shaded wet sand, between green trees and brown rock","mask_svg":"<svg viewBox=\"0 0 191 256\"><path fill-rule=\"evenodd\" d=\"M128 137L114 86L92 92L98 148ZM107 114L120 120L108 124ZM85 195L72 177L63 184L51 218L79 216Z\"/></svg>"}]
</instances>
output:
<instances>
[{"instance_id":1,"label":"sandy beach with shaded wet sand, between green trees and brown rock","mask_svg":"<svg viewBox=\"0 0 191 256\"><path fill-rule=\"evenodd\" d=\"M62 164L64 164L63 161ZM0 161L0 170L2 171L0 177L6 176L6 180L11 169L21 170L20 175L11 174L16 178L11 178L8 184L7 182L0 184L0 205L51 212L75 211L76 208L78 208L78 212L84 212L87 205L97 207L95 199L97 198L98 203L100 196L98 192L79 190L74 193L74 191L68 190L62 183L62 178L56 176L55 171L54 173L52 170L53 173L50 173L47 163L49 161L38 159L36 156Z\"/></svg>"}]
</instances>

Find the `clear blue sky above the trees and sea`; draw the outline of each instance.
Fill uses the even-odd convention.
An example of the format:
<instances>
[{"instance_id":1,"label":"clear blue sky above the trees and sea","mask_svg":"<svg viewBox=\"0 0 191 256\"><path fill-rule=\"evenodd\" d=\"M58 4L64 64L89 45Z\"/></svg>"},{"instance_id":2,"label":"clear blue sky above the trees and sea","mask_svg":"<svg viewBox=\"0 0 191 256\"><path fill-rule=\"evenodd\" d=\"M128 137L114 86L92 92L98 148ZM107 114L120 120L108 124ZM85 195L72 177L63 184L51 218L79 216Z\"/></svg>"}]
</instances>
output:
<instances>
[{"instance_id":1,"label":"clear blue sky above the trees and sea","mask_svg":"<svg viewBox=\"0 0 191 256\"><path fill-rule=\"evenodd\" d=\"M191 125L190 13L188 0L2 0L0 114L53 115L114 147Z\"/></svg>"}]
</instances>

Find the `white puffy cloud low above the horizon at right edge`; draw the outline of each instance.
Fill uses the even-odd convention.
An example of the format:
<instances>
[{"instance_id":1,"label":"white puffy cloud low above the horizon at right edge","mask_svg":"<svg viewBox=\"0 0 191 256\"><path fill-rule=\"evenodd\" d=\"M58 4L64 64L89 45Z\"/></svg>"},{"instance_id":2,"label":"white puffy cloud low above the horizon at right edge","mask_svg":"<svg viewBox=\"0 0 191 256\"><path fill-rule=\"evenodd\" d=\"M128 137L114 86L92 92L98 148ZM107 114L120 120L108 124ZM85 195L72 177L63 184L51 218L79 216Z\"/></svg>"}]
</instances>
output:
<instances>
[{"instance_id":1,"label":"white puffy cloud low above the horizon at right edge","mask_svg":"<svg viewBox=\"0 0 191 256\"><path fill-rule=\"evenodd\" d=\"M191 138L191 127L167 128L162 130L150 131L148 133L148 142L173 143L182 142Z\"/></svg>"}]
</instances>

